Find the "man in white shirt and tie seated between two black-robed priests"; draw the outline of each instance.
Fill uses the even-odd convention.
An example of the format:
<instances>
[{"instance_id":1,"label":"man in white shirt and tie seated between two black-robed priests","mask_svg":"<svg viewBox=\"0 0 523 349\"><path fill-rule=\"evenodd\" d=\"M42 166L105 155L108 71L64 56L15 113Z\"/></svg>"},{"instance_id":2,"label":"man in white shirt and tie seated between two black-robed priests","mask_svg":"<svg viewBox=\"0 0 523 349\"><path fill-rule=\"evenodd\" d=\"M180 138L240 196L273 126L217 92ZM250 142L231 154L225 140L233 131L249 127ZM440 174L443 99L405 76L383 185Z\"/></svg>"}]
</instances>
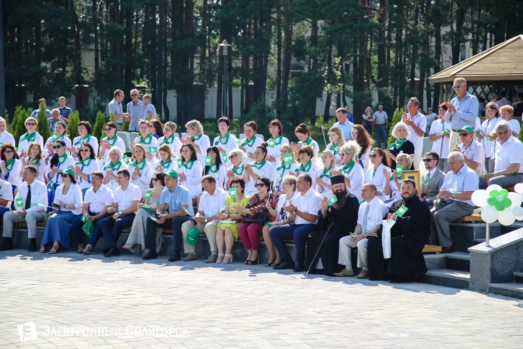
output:
<instances>
[{"instance_id":1,"label":"man in white shirt and tie seated between two black-robed priests","mask_svg":"<svg viewBox=\"0 0 523 349\"><path fill-rule=\"evenodd\" d=\"M358 279L369 277L367 263L367 243L371 235L376 235L381 229L381 220L388 212L387 206L377 196L376 185L372 183L363 184L361 198L365 200L358 209L358 222L354 232L339 239L338 264L345 265L336 276L353 276L353 263L351 261L351 249L358 249L358 268L362 268ZM357 236L355 236L356 234Z\"/></svg>"}]
</instances>

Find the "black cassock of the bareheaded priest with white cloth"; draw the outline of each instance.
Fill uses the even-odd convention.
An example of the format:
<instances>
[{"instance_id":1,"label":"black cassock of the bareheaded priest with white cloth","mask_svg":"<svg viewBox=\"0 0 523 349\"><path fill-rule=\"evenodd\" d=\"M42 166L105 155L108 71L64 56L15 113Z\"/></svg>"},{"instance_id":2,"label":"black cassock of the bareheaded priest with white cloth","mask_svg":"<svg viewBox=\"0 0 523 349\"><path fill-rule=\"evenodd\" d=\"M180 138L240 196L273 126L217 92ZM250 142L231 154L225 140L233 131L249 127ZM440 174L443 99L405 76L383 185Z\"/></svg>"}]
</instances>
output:
<instances>
[{"instance_id":1,"label":"black cassock of the bareheaded priest with white cloth","mask_svg":"<svg viewBox=\"0 0 523 349\"><path fill-rule=\"evenodd\" d=\"M408 281L418 279L427 272L422 251L430 235L430 209L415 194L407 201L402 199L394 202L389 213L396 212L402 205L408 210L403 217L396 217L396 223L391 228L391 258L383 258L381 229L378 237L369 238L369 280Z\"/></svg>"}]
</instances>

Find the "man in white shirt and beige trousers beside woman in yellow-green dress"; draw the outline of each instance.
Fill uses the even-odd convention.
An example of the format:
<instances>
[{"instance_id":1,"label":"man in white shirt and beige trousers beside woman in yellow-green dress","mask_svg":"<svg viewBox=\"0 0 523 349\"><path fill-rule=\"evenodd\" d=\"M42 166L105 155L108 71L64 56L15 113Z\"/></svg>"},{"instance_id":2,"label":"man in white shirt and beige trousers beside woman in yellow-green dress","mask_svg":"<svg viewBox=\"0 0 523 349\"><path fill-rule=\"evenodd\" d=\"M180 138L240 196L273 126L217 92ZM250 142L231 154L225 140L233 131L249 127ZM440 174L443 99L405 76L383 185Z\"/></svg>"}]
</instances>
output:
<instances>
[{"instance_id":1,"label":"man in white shirt and beige trousers beside woman in yellow-green dress","mask_svg":"<svg viewBox=\"0 0 523 349\"><path fill-rule=\"evenodd\" d=\"M211 175L203 176L201 179L203 194L200 197L198 212L194 219L181 224L181 234L184 240L184 251L187 256L184 262L196 260L195 245L187 243L187 233L194 226L198 232L205 233L209 241L211 255L205 263L215 263L218 259L218 245L216 244L216 225L220 221L217 219L225 207L225 198L229 195L225 190L216 185L216 179Z\"/></svg>"}]
</instances>

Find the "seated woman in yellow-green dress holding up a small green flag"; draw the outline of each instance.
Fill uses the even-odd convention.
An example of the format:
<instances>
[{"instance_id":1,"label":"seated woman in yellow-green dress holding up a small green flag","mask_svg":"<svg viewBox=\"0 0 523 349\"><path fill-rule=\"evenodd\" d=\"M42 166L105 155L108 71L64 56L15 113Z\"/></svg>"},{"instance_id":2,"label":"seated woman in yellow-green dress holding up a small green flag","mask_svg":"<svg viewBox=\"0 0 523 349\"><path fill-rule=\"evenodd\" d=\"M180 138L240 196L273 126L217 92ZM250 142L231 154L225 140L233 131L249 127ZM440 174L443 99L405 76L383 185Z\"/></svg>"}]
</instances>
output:
<instances>
[{"instance_id":1,"label":"seated woman in yellow-green dress holding up a small green flag","mask_svg":"<svg viewBox=\"0 0 523 349\"><path fill-rule=\"evenodd\" d=\"M232 198L230 193L225 198L225 209L218 213L217 218L220 222L216 226L216 244L218 246L218 259L216 264L228 264L232 262L232 249L234 242L238 241L238 220L242 215L234 210L234 206L247 206L249 197L245 195L245 181L242 177L232 177L230 179L231 188L236 188L236 197ZM225 245L225 249L223 246Z\"/></svg>"}]
</instances>

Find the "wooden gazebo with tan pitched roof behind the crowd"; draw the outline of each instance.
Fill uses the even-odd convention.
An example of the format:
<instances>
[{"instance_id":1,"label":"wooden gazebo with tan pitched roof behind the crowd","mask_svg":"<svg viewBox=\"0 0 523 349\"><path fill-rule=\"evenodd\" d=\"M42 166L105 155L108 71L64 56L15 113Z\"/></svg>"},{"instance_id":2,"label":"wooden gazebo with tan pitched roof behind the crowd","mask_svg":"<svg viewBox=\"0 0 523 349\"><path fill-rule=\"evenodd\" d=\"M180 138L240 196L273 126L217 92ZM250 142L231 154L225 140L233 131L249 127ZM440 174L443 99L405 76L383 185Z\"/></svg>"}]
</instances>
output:
<instances>
[{"instance_id":1,"label":"wooden gazebo with tan pitched roof behind the crowd","mask_svg":"<svg viewBox=\"0 0 523 349\"><path fill-rule=\"evenodd\" d=\"M512 97L523 86L523 35L518 35L454 64L428 78L439 84L440 102L454 96L452 83L457 77L467 80L469 93L488 102L495 91L506 91ZM510 98L511 99L511 98Z\"/></svg>"}]
</instances>

